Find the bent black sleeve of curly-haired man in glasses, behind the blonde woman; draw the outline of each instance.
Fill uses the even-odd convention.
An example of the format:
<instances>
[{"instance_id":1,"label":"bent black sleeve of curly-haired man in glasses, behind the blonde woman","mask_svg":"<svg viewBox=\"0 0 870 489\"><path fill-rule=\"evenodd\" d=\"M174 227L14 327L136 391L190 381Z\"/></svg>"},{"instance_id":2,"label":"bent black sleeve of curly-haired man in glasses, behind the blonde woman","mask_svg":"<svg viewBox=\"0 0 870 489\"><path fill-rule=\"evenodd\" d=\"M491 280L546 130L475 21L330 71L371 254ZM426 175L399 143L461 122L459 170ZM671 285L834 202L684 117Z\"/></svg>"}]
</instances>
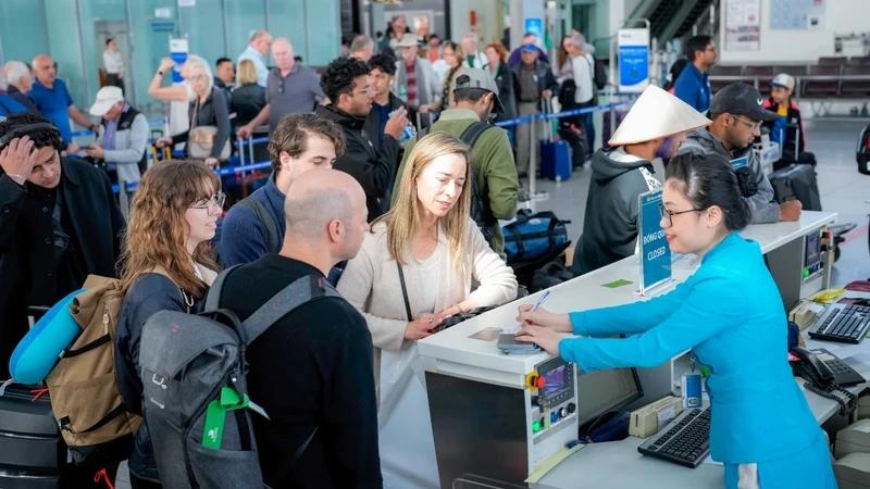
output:
<instances>
[{"instance_id":1,"label":"bent black sleeve of curly-haired man in glasses, behind the blonde woman","mask_svg":"<svg viewBox=\"0 0 870 489\"><path fill-rule=\"evenodd\" d=\"M347 135L347 133L345 133ZM360 183L366 197L384 197L389 190L389 180L396 172L396 161L399 155L399 142L389 135L384 135L384 141L374 154L362 147L364 136L347 137L345 154L335 162L335 170L350 174Z\"/></svg>"}]
</instances>

